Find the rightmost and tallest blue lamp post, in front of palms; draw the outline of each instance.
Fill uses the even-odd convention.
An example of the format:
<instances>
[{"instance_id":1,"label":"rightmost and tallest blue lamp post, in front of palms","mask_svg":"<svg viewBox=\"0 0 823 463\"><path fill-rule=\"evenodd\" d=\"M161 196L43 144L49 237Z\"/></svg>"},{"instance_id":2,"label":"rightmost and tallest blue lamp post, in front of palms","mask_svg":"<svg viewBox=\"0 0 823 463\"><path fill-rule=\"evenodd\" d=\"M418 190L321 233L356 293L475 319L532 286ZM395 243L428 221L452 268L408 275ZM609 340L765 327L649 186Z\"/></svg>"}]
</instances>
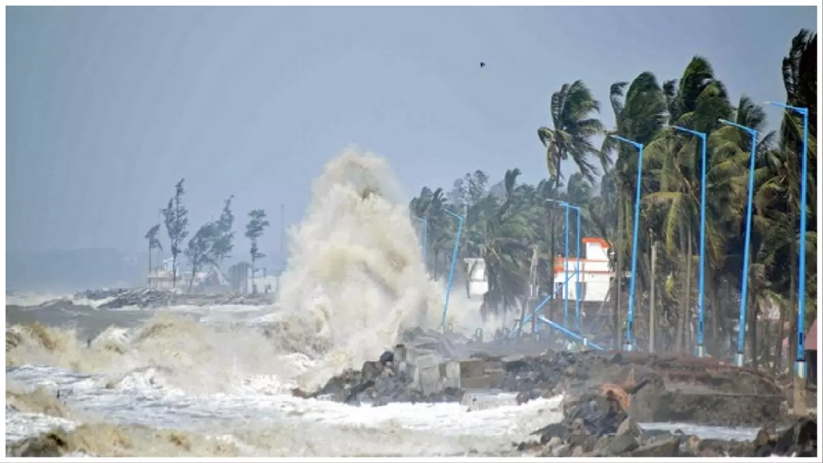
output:
<instances>
[{"instance_id":1,"label":"rightmost and tallest blue lamp post, in front of palms","mask_svg":"<svg viewBox=\"0 0 823 463\"><path fill-rule=\"evenodd\" d=\"M767 101L772 106L791 110L803 116L803 153L800 174L800 265L797 269L797 362L794 363L795 374L806 378L806 195L809 175L808 144L809 144L809 110L797 106L783 105L774 101Z\"/></svg>"}]
</instances>

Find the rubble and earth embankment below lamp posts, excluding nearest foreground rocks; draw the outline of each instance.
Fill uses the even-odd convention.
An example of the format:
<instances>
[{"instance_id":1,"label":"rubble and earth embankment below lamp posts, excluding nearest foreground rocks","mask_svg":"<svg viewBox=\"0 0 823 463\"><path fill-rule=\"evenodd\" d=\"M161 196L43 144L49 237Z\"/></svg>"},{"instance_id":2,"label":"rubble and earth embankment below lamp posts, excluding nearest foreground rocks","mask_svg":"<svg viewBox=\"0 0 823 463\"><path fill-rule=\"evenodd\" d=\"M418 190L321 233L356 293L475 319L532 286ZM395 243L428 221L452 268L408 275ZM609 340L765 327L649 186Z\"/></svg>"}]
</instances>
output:
<instances>
[{"instance_id":1,"label":"rubble and earth embankment below lamp posts, excluding nearest foreground rocks","mask_svg":"<svg viewBox=\"0 0 823 463\"><path fill-rule=\"evenodd\" d=\"M442 343L443 339L439 341ZM422 344L429 349L438 345ZM403 344L398 347L412 348ZM418 349L418 358L424 357L419 350L421 343L413 347ZM484 371L477 375L487 376L486 389L516 393L520 402L614 391L620 395L626 413L641 422L760 426L790 421L787 398L767 373L724 365L710 358L551 350L500 358L482 349L467 354L463 360L453 360L456 357L439 355L450 360L435 366L441 373L439 384L428 388L421 382L421 372L416 371L421 368L403 365L402 359L387 351L378 360L365 362L360 370L347 370L332 377L319 391L295 391L295 395L371 405L460 401L465 391L483 388L472 388L477 381L464 374L474 369ZM462 384L444 379L449 367L461 369Z\"/></svg>"}]
</instances>

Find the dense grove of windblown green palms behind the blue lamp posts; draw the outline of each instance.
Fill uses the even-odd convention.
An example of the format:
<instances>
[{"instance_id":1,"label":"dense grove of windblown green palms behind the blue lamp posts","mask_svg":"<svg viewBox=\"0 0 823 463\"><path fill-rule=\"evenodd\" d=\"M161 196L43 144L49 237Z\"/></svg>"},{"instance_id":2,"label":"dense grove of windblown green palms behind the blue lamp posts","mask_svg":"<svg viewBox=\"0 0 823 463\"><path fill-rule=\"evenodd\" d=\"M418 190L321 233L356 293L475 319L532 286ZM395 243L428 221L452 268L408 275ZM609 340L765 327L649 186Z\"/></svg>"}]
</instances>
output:
<instances>
[{"instance_id":1,"label":"dense grove of windblown green palms behind the blue lamp posts","mask_svg":"<svg viewBox=\"0 0 823 463\"><path fill-rule=\"evenodd\" d=\"M817 163L816 47L816 34L801 30L782 63L785 102L810 111L806 269L809 322L816 316L817 278L813 168ZM775 96L758 96L764 100L766 97ZM768 362L779 368L782 339L790 335L792 346L796 345L793 334L797 318L802 119L786 112L777 133L765 132L764 110L748 96L731 101L709 62L699 56L692 58L676 80L661 83L652 72L642 72L630 82L616 82L609 89L609 102L616 126L604 128L596 118L600 104L584 82L565 84L551 96L551 126L537 130L546 147L548 179L537 185L518 184L520 171L515 168L506 171L504 179L491 189L487 188L488 175L481 171L458 180L449 195L440 188L423 188L410 209L413 215L429 221L430 272L442 276L456 232L454 221L443 210L462 213L467 221L461 255L481 257L486 262L489 292L482 311L522 314L529 300L528 280L535 253L537 279L543 288L551 288L551 256L563 249L565 221L560 220L563 208L546 199L558 199L583 208L581 235L607 240L611 267L616 274L623 274L630 267L638 153L634 147L617 144L606 136L620 134L645 145L635 335L639 347L644 347L649 328L649 289L654 285L658 345L691 352L697 306L694 282L700 235L700 139L667 128L667 124L679 125L708 134L705 334L711 355L730 355L736 345L739 315L751 139L742 130L718 122L729 119L760 133L748 276L747 357L757 353L754 362ZM595 147L595 138L603 136L602 146ZM566 159L572 159L579 172L566 177L560 171L560 162ZM602 176L597 180L600 169ZM570 240L578 239L574 226L570 233ZM654 272L650 269L653 244L658 246ZM625 329L627 291L622 283L613 284L610 291L615 339L620 339ZM558 320L556 307L546 310ZM758 323L758 316L765 319L765 312L774 310L779 311L778 323ZM791 326L784 326L785 321ZM758 343L758 334L768 342Z\"/></svg>"}]
</instances>

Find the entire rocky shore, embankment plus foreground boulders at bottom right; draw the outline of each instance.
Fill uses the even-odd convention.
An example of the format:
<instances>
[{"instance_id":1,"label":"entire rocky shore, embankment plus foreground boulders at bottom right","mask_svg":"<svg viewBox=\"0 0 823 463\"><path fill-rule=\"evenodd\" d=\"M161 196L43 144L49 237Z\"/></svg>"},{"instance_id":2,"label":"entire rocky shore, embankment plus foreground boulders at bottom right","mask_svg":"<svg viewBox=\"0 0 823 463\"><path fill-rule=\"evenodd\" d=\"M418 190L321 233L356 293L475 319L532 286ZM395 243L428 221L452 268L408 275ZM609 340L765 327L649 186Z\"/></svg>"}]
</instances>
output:
<instances>
[{"instance_id":1,"label":"entire rocky shore, embankment plus foreground boulders at bottom right","mask_svg":"<svg viewBox=\"0 0 823 463\"><path fill-rule=\"evenodd\" d=\"M427 343L443 350L443 338ZM414 342L405 335L405 341ZM398 346L399 351L409 348ZM398 348L360 370L332 377L318 391L295 390L302 397L352 405L389 402L460 402L471 390L441 385L424 393L414 369L403 365ZM447 356L446 356L447 357ZM463 362L500 362L498 391L517 393L516 403L564 395L563 419L514 444L523 455L567 456L816 456L816 420L790 419L785 397L764 372L724 365L712 359L656 357L631 353L568 353L495 358L476 352ZM458 362L458 363L463 363ZM455 363L455 362L453 362ZM441 365L442 369L442 365ZM466 405L465 400L463 404ZM471 407L469 407L471 409ZM752 441L701 439L694 435L644 429L643 422L686 422L761 427ZM768 423L765 426L763 423Z\"/></svg>"}]
</instances>

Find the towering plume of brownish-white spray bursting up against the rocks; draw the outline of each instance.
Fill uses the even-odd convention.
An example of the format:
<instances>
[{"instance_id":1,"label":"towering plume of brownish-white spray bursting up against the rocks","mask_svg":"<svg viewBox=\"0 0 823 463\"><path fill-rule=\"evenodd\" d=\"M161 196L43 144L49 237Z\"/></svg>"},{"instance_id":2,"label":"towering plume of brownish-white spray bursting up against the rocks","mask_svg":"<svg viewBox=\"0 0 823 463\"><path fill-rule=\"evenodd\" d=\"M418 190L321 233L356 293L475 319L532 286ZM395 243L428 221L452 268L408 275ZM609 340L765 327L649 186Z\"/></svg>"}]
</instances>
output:
<instances>
[{"instance_id":1,"label":"towering plume of brownish-white spray bursting up against the rocks","mask_svg":"<svg viewBox=\"0 0 823 463\"><path fill-rule=\"evenodd\" d=\"M309 388L377 358L404 327L436 328L443 300L384 159L348 149L327 164L313 193L291 231L277 304L292 335L302 330L305 342L325 347L301 377Z\"/></svg>"}]
</instances>

